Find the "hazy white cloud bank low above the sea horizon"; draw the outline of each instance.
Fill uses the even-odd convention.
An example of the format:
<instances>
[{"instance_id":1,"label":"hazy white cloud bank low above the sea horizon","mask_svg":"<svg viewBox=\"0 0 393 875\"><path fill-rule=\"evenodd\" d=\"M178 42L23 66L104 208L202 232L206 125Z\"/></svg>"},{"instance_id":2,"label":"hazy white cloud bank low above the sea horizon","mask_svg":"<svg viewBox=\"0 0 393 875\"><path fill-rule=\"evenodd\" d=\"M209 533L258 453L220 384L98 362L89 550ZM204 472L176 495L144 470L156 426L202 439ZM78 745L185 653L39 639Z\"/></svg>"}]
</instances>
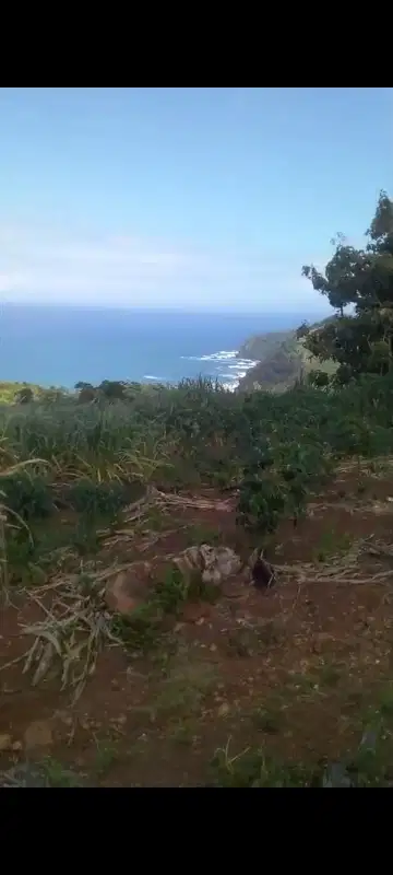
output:
<instances>
[{"instance_id":1,"label":"hazy white cloud bank low above the sea horizon","mask_svg":"<svg viewBox=\"0 0 393 875\"><path fill-rule=\"evenodd\" d=\"M199 252L0 223L3 301L315 312L323 301L300 269L295 254Z\"/></svg>"}]
</instances>

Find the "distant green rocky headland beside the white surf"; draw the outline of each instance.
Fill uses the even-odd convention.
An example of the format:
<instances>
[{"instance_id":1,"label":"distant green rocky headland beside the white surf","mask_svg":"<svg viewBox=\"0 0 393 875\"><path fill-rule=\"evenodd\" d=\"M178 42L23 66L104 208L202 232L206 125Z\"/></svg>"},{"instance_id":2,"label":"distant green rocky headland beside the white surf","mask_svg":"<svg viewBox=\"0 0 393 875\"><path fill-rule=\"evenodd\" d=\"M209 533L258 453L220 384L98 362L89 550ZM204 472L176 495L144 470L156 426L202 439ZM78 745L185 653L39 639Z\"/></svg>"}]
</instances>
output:
<instances>
[{"instance_id":1,"label":"distant green rocky headland beside the white surf","mask_svg":"<svg viewBox=\"0 0 393 875\"><path fill-rule=\"evenodd\" d=\"M335 371L334 362L322 363L311 355L295 330L254 335L242 343L238 358L255 360L255 366L240 381L239 392L285 392L310 371Z\"/></svg>"}]
</instances>

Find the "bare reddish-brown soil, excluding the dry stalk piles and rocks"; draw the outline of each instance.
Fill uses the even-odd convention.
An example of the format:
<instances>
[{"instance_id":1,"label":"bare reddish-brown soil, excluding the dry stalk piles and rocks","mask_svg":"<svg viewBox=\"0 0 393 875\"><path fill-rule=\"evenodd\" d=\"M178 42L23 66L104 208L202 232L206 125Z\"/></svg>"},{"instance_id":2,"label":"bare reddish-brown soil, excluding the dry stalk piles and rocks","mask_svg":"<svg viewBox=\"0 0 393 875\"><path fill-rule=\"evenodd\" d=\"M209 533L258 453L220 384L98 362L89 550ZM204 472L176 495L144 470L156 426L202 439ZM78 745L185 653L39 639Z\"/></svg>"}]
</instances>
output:
<instances>
[{"instance_id":1,"label":"bare reddish-brown soil, excluding the dry stalk piles and rocks","mask_svg":"<svg viewBox=\"0 0 393 875\"><path fill-rule=\"evenodd\" d=\"M357 545L393 549L393 469L359 483L359 471L342 470L297 528L283 523L272 590L239 579L215 604L186 605L170 625L176 648L153 656L106 648L75 703L56 678L33 687L14 662L27 646L21 625L43 607L25 597L4 608L0 770L45 758L60 784L72 769L99 786L196 786L228 742L234 756L263 748L294 762L352 751L393 666L393 559L365 549L348 572ZM233 512L174 506L158 522L155 542L124 528L103 557L159 559L209 536L250 551Z\"/></svg>"}]
</instances>

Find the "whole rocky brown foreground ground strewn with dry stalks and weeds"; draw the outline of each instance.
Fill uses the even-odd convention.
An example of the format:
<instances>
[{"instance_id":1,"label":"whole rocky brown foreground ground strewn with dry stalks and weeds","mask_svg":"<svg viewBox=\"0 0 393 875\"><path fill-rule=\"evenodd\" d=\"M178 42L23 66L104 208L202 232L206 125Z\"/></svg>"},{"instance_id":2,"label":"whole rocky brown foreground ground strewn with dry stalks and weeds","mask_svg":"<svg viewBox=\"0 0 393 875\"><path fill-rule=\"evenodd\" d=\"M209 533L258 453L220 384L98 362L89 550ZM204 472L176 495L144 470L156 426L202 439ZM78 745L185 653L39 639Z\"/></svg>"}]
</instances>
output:
<instances>
[{"instance_id":1,"label":"whole rocky brown foreground ground strewn with dry stalks and weeds","mask_svg":"<svg viewBox=\"0 0 393 875\"><path fill-rule=\"evenodd\" d=\"M390 784L393 466L344 467L284 523L271 587L234 505L152 493L4 588L3 786L331 785L338 762Z\"/></svg>"}]
</instances>

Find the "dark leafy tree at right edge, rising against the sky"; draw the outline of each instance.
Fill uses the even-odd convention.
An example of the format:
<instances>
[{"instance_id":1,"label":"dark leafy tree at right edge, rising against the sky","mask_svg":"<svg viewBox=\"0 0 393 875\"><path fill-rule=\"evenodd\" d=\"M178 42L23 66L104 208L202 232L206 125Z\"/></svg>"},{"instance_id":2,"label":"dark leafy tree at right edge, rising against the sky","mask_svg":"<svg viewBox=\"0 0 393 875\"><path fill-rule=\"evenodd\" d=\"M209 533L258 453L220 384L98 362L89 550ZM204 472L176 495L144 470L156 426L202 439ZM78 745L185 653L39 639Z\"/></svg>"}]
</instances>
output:
<instances>
[{"instance_id":1,"label":"dark leafy tree at right edge, rising against the sky","mask_svg":"<svg viewBox=\"0 0 393 875\"><path fill-rule=\"evenodd\" d=\"M306 348L321 361L338 363L335 380L393 370L393 201L381 191L364 249L338 235L325 272L306 265L302 275L324 294L336 317L317 328L300 327ZM353 313L346 313L352 306Z\"/></svg>"}]
</instances>

